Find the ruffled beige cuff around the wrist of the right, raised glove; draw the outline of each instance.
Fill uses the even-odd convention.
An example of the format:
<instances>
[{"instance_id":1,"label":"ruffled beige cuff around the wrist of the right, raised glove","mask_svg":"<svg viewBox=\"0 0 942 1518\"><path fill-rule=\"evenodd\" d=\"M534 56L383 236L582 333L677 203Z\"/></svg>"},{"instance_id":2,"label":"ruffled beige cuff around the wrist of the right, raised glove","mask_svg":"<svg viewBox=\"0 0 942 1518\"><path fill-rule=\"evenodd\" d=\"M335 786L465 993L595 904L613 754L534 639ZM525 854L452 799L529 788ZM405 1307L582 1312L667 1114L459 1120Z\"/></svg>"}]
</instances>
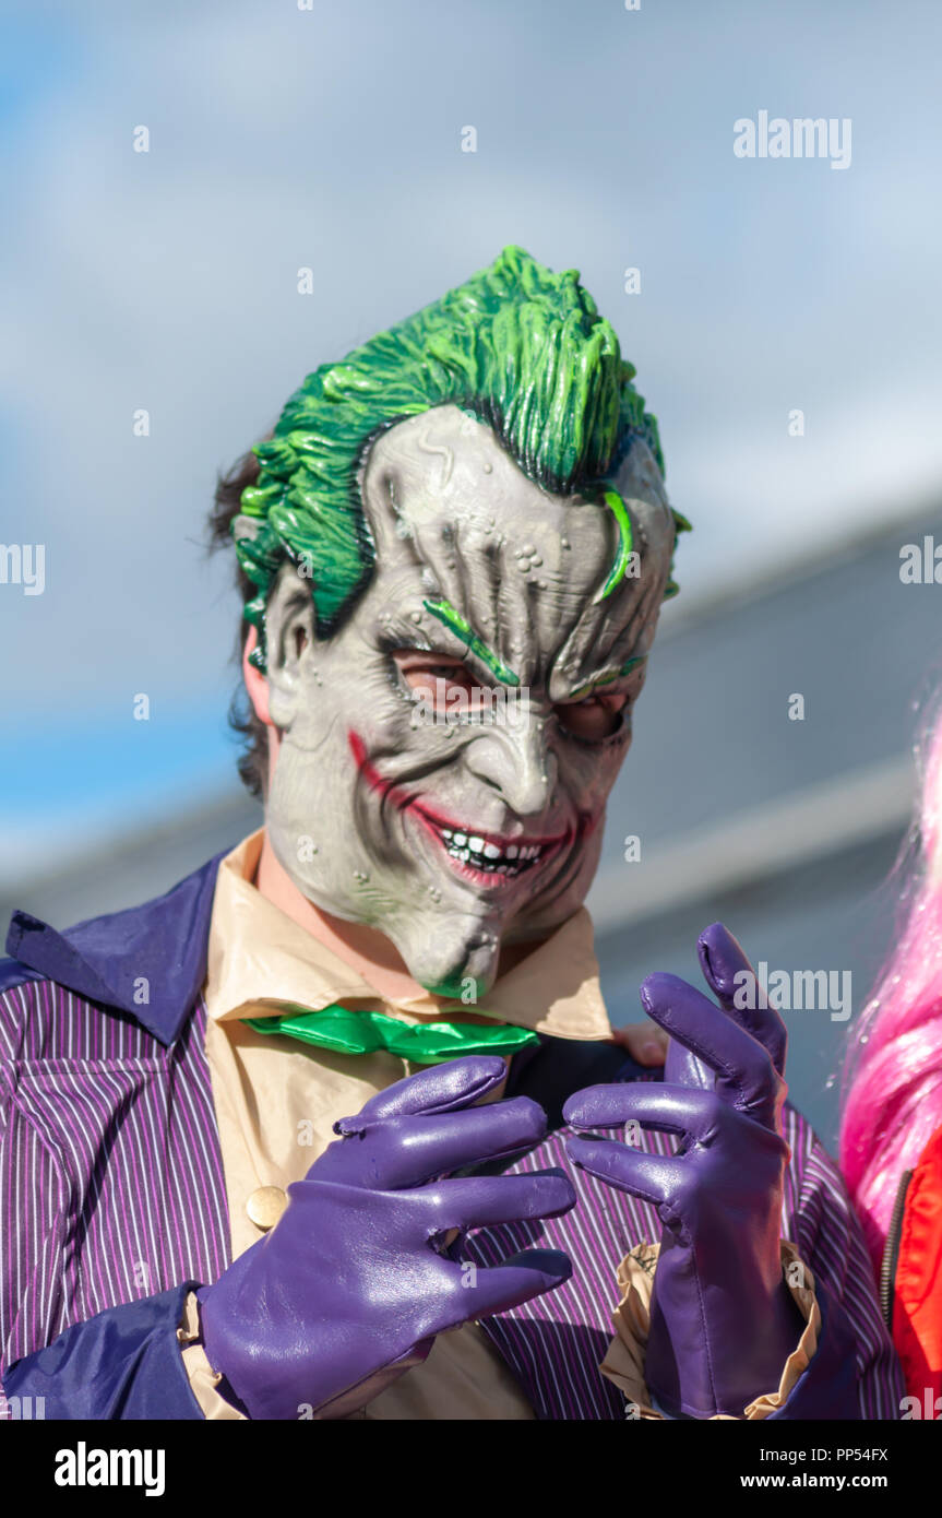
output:
<instances>
[{"instance_id":1,"label":"ruffled beige cuff around the wrist of the right, raised glove","mask_svg":"<svg viewBox=\"0 0 942 1518\"><path fill-rule=\"evenodd\" d=\"M661 1422L664 1415L651 1406L651 1394L645 1383L651 1295L658 1252L660 1245L640 1243L619 1264L617 1283L622 1298L613 1313L616 1337L608 1345L608 1354L599 1369L623 1392L633 1416ZM818 1348L821 1309L815 1299L815 1277L802 1263L795 1245L789 1243L787 1239L781 1240L781 1271L792 1299L804 1319L801 1339L784 1363L778 1390L766 1392L751 1401L743 1410L742 1419L731 1418L728 1413L714 1413L716 1419L758 1422L778 1412L790 1397L798 1377L807 1371Z\"/></svg>"}]
</instances>

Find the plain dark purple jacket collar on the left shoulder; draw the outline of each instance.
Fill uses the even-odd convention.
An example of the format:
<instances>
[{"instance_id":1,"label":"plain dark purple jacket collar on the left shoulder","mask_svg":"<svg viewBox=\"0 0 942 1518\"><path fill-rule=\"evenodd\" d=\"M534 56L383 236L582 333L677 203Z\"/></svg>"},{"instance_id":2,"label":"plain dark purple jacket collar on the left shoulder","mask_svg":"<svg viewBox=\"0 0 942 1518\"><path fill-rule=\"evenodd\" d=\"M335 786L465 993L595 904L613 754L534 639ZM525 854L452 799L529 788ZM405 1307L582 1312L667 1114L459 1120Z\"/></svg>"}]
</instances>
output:
<instances>
[{"instance_id":1,"label":"plain dark purple jacket collar on the left shoulder","mask_svg":"<svg viewBox=\"0 0 942 1518\"><path fill-rule=\"evenodd\" d=\"M0 964L0 991L23 979L56 981L171 1044L206 979L215 874L226 852L153 902L61 934L29 912L14 912L6 952L18 962Z\"/></svg>"}]
</instances>

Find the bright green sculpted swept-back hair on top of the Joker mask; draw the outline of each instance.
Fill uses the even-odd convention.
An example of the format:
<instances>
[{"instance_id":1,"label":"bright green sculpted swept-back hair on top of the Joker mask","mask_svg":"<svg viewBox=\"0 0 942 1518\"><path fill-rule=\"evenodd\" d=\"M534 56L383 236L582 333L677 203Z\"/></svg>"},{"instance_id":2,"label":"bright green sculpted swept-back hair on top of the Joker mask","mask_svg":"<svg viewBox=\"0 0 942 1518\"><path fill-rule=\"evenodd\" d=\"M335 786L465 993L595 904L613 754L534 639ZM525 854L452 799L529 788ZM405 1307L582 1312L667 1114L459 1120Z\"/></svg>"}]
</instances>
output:
<instances>
[{"instance_id":1,"label":"bright green sculpted swept-back hair on top of the Joker mask","mask_svg":"<svg viewBox=\"0 0 942 1518\"><path fill-rule=\"evenodd\" d=\"M329 636L366 586L376 559L358 486L372 439L435 405L460 405L493 428L519 468L545 489L595 489L643 437L664 463L657 422L631 381L610 322L575 269L554 275L522 247L457 290L308 375L275 436L255 448L258 483L241 512L240 563L258 594L246 618L259 633L285 562L311 577L317 635Z\"/></svg>"}]
</instances>

